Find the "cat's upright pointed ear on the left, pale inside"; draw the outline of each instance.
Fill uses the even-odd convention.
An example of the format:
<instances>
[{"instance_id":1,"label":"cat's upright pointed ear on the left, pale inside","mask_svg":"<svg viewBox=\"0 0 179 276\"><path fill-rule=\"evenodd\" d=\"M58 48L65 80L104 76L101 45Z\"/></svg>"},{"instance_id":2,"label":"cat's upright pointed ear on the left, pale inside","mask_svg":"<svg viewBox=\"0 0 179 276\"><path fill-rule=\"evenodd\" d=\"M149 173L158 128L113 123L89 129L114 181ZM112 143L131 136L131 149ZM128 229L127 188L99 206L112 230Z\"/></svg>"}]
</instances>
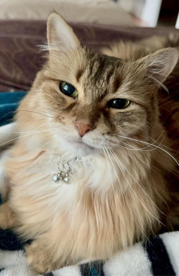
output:
<instances>
[{"instance_id":1,"label":"cat's upright pointed ear on the left, pale inside","mask_svg":"<svg viewBox=\"0 0 179 276\"><path fill-rule=\"evenodd\" d=\"M80 42L72 28L56 12L49 15L47 21L47 39L49 50L69 50L80 47Z\"/></svg>"}]
</instances>

